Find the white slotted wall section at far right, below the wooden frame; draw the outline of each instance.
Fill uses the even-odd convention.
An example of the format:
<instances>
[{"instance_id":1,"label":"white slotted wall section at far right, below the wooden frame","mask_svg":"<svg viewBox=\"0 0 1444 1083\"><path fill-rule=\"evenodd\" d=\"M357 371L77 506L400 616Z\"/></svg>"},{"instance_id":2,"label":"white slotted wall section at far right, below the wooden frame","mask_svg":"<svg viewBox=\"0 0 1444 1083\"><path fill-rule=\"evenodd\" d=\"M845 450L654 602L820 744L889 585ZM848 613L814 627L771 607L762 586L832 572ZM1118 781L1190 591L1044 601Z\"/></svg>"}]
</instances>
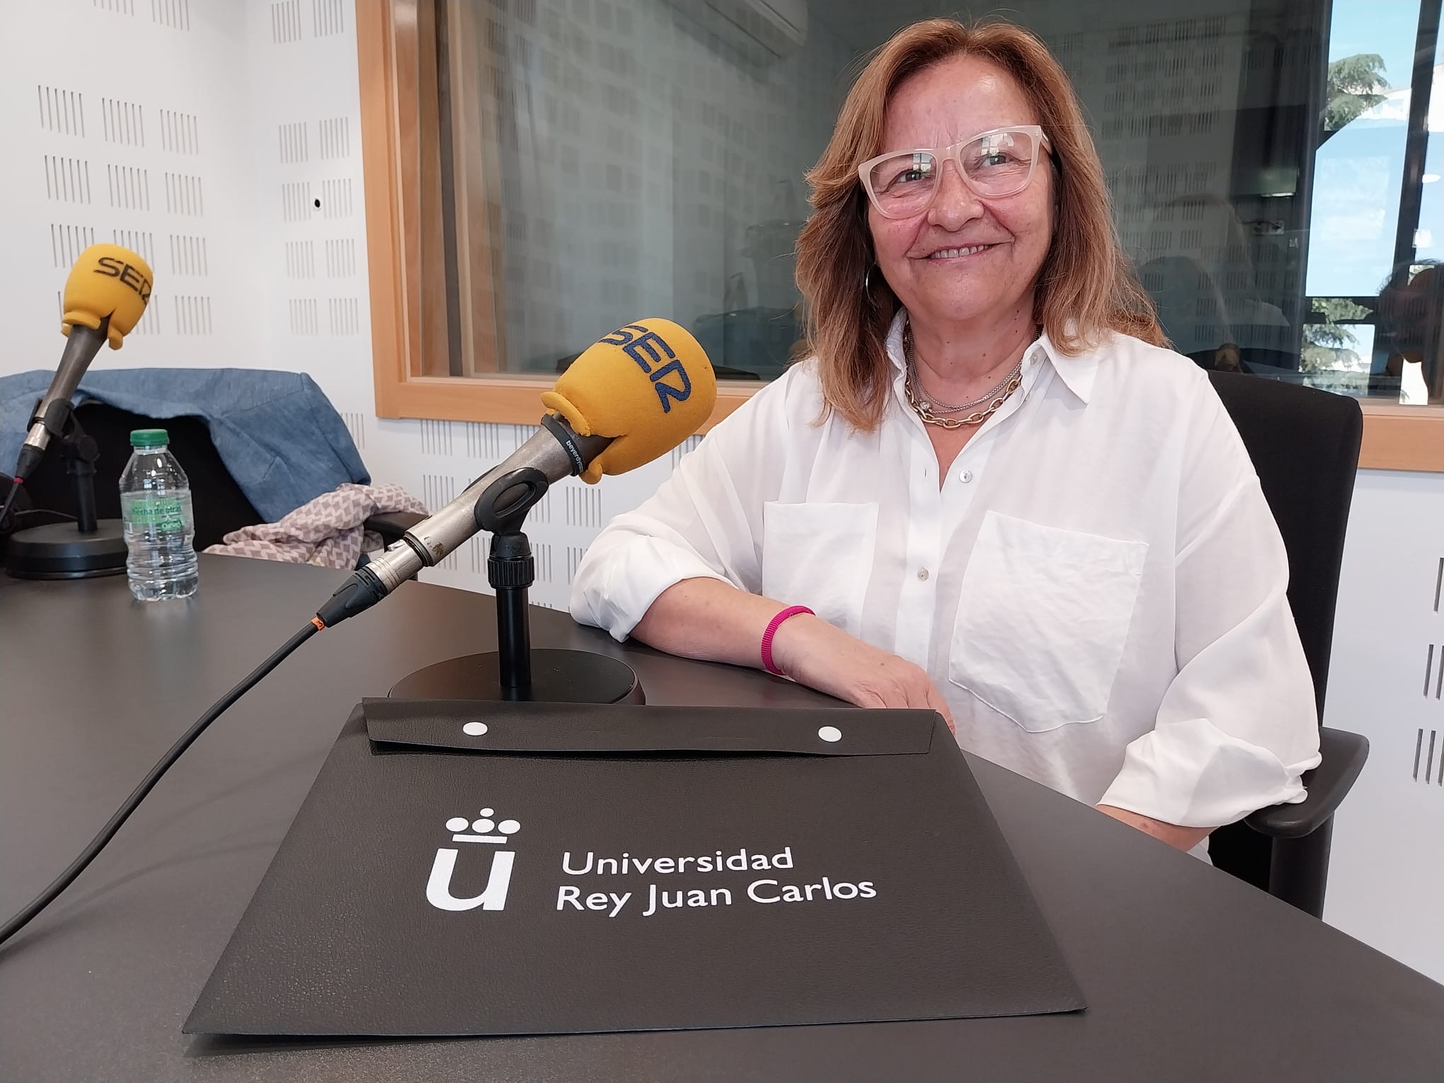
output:
<instances>
[{"instance_id":1,"label":"white slotted wall section at far right, below the wooden frame","mask_svg":"<svg viewBox=\"0 0 1444 1083\"><path fill-rule=\"evenodd\" d=\"M1370 744L1324 920L1444 982L1444 474L1359 477L1324 721Z\"/></svg>"}]
</instances>

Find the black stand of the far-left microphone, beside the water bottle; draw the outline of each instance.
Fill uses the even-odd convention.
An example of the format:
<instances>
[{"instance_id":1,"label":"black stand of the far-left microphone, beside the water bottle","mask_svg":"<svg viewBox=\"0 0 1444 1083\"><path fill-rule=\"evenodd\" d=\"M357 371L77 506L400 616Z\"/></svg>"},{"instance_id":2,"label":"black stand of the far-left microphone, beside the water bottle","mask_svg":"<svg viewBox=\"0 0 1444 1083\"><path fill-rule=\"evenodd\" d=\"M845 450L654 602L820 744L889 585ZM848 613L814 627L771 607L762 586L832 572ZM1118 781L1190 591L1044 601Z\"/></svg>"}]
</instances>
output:
<instances>
[{"instance_id":1,"label":"black stand of the far-left microphone, beside the water bottle","mask_svg":"<svg viewBox=\"0 0 1444 1083\"><path fill-rule=\"evenodd\" d=\"M51 439L59 439L65 474L75 494L75 526L48 523L17 530L6 549L6 570L16 579L91 579L126 570L126 534L118 518L95 517L95 461L100 448L87 435L69 399L45 410Z\"/></svg>"}]
</instances>

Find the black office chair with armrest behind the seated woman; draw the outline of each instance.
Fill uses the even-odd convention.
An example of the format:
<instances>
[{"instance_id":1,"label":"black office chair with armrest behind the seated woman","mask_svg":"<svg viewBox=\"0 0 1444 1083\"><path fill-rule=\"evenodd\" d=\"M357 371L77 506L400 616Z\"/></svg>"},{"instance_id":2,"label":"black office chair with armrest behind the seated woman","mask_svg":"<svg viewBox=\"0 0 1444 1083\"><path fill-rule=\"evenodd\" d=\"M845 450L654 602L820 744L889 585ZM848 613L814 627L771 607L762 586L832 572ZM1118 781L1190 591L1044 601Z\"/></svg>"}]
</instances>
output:
<instances>
[{"instance_id":1,"label":"black office chair with armrest behind the seated woman","mask_svg":"<svg viewBox=\"0 0 1444 1083\"><path fill-rule=\"evenodd\" d=\"M1209 378L1243 438L1284 536L1288 604L1323 719L1363 414L1353 399L1310 387L1238 373L1209 373ZM1304 775L1304 801L1261 809L1220 827L1209 842L1214 865L1314 917L1324 913L1334 810L1369 757L1369 742L1359 734L1320 726L1318 735L1323 762Z\"/></svg>"}]
</instances>

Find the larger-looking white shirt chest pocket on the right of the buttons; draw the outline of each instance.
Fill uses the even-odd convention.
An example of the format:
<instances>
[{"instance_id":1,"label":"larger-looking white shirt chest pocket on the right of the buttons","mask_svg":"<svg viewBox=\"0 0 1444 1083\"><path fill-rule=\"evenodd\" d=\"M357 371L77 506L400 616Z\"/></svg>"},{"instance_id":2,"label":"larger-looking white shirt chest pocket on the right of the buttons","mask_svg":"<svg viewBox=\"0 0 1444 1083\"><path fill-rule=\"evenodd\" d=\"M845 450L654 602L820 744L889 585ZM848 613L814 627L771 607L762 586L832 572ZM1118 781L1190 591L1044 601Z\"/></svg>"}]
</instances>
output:
<instances>
[{"instance_id":1,"label":"larger-looking white shirt chest pocket on the right of the buttons","mask_svg":"<svg viewBox=\"0 0 1444 1083\"><path fill-rule=\"evenodd\" d=\"M1030 732L1096 722L1147 554L1145 542L989 511L963 573L949 680Z\"/></svg>"}]
</instances>

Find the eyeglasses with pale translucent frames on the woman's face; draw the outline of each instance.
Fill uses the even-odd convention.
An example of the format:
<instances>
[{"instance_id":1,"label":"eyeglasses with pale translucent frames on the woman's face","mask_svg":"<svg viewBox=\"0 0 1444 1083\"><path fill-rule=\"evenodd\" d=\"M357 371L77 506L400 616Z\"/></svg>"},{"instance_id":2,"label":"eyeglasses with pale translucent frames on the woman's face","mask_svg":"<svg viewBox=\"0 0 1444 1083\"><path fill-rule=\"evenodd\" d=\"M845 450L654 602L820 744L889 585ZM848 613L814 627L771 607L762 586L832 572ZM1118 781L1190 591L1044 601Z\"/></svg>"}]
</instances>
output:
<instances>
[{"instance_id":1,"label":"eyeglasses with pale translucent frames on the woman's face","mask_svg":"<svg viewBox=\"0 0 1444 1083\"><path fill-rule=\"evenodd\" d=\"M950 147L878 155L858 166L858 176L878 214L884 218L911 218L933 205L947 162L957 166L959 176L973 192L998 199L1028 186L1040 149L1050 153L1051 144L1037 124L993 129Z\"/></svg>"}]
</instances>

